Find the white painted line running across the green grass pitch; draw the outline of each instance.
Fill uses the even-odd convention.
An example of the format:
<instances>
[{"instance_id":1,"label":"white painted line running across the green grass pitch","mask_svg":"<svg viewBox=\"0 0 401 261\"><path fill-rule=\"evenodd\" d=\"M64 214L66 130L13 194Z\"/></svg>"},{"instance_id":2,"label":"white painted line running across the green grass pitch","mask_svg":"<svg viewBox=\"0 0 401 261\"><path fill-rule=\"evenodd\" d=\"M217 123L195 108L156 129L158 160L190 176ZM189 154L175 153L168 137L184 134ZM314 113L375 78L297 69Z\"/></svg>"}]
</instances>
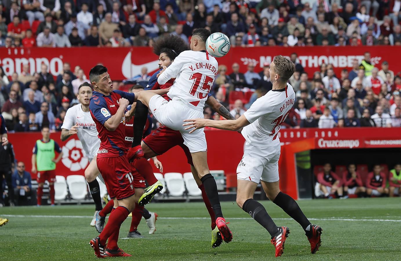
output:
<instances>
[{"instance_id":1,"label":"white painted line running across the green grass pitch","mask_svg":"<svg viewBox=\"0 0 401 261\"><path fill-rule=\"evenodd\" d=\"M56 216L56 215L0 215L1 217L36 217L36 218L68 218L68 219L90 219L93 216ZM210 217L158 217L158 219L210 219ZM251 218L227 218L227 220L245 220ZM273 218L278 220L292 220L290 218ZM348 219L348 218L312 218L316 221L374 221L374 222L401 222L400 219Z\"/></svg>"}]
</instances>

